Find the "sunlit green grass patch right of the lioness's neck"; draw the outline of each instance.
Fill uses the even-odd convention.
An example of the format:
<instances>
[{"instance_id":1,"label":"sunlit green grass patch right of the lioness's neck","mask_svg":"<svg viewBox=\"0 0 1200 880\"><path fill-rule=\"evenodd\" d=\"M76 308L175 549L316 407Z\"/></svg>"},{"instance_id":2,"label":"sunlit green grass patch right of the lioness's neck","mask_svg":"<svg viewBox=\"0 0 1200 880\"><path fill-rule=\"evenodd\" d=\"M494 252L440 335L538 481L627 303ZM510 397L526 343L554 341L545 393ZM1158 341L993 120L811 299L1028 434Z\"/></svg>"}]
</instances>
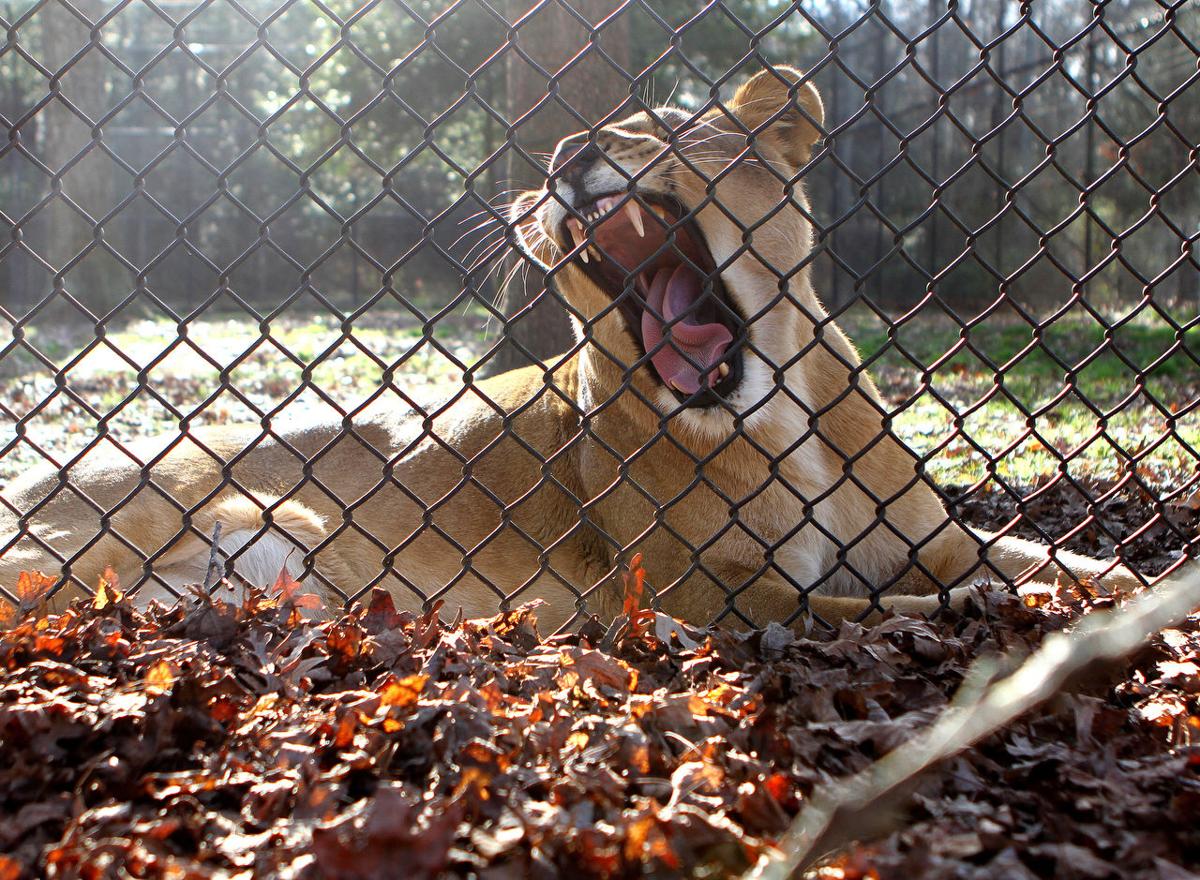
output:
<instances>
[{"instance_id":1,"label":"sunlit green grass patch right of the lioness's neck","mask_svg":"<svg viewBox=\"0 0 1200 880\"><path fill-rule=\"evenodd\" d=\"M1075 312L1034 329L997 316L964 329L923 316L888 334L860 310L840 323L898 432L943 481L976 481L994 471L1028 485L1064 468L1112 477L1130 457L1169 485L1196 469L1194 318L1176 329L1144 310L1109 329Z\"/></svg>"}]
</instances>

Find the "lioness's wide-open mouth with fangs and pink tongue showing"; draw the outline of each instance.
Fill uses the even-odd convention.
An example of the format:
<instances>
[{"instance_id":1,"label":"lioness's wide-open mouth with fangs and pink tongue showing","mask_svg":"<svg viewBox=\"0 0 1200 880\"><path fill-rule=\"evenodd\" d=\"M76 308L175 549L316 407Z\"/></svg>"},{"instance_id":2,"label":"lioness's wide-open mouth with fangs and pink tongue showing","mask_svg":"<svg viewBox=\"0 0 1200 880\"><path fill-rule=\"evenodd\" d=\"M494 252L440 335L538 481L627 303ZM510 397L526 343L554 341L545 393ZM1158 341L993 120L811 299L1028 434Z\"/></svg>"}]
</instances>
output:
<instances>
[{"instance_id":1,"label":"lioness's wide-open mouth with fangs and pink tongue showing","mask_svg":"<svg viewBox=\"0 0 1200 880\"><path fill-rule=\"evenodd\" d=\"M685 217L673 199L602 196L564 221L564 240L625 316L662 384L688 406L713 406L740 381L744 322L700 227Z\"/></svg>"}]
</instances>

